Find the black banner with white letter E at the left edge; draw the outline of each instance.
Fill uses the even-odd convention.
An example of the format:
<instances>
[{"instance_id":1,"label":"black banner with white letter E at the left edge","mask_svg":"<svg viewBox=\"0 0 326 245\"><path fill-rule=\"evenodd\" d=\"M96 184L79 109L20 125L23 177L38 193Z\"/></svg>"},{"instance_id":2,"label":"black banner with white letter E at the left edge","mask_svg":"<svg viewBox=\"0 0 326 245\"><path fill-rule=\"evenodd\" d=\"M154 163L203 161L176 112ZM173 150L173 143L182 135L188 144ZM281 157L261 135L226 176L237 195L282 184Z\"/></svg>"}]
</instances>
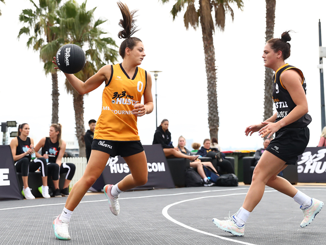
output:
<instances>
[{"instance_id":1,"label":"black banner with white letter E at the left edge","mask_svg":"<svg viewBox=\"0 0 326 245\"><path fill-rule=\"evenodd\" d=\"M22 200L9 145L0 145L0 201Z\"/></svg>"}]
</instances>

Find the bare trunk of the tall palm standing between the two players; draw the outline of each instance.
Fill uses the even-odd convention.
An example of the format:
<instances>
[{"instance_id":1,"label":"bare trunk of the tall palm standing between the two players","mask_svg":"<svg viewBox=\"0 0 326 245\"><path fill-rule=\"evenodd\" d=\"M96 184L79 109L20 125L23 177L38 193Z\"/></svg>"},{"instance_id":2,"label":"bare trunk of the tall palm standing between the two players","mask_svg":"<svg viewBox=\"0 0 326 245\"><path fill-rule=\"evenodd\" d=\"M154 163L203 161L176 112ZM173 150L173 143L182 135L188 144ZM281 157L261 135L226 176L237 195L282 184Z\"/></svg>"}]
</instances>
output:
<instances>
[{"instance_id":1,"label":"bare trunk of the tall palm standing between the two players","mask_svg":"<svg viewBox=\"0 0 326 245\"><path fill-rule=\"evenodd\" d=\"M200 16L203 16L201 11L202 1L199 1ZM216 67L215 67L215 48L213 43L213 31L205 28L204 18L200 18L204 54L205 54L205 66L207 77L207 97L208 97L208 126L210 137L218 139L219 133L219 111L218 111L218 94L216 93Z\"/></svg>"}]
</instances>

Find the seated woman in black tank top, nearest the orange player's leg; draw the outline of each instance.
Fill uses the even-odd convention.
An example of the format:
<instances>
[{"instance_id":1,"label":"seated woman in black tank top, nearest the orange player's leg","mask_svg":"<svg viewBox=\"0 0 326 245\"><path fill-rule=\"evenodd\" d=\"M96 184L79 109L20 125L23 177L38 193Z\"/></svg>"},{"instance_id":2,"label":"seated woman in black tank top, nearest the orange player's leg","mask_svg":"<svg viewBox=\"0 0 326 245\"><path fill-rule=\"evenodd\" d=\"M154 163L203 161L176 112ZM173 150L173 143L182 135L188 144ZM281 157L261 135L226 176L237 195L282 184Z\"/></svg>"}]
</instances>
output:
<instances>
[{"instance_id":1,"label":"seated woman in black tank top, nearest the orange player's leg","mask_svg":"<svg viewBox=\"0 0 326 245\"><path fill-rule=\"evenodd\" d=\"M52 124L50 126L49 137L42 138L35 146L36 151L42 148L43 157L48 159L48 175L52 177L53 185L55 186L55 197L69 195L69 184L76 170L75 164L62 163L62 157L66 150L66 142L61 139L61 129L61 124ZM42 157L38 153L36 155ZM67 173L67 175L63 189L60 190L59 177L63 173Z\"/></svg>"}]
</instances>

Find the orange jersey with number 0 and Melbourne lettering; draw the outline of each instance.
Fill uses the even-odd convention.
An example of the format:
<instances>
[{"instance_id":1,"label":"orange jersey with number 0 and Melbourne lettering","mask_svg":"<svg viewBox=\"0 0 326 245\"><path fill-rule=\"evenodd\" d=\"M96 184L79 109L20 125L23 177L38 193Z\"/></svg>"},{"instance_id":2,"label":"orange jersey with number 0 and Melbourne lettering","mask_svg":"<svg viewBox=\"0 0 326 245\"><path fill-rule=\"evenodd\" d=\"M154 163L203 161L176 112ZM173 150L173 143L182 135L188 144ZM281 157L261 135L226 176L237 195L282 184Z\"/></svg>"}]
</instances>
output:
<instances>
[{"instance_id":1,"label":"orange jersey with number 0 and Melbourne lettering","mask_svg":"<svg viewBox=\"0 0 326 245\"><path fill-rule=\"evenodd\" d=\"M111 78L103 90L102 112L94 132L94 139L114 141L140 140L134 105L142 101L146 89L147 72L136 67L130 79L122 64L111 65Z\"/></svg>"}]
</instances>

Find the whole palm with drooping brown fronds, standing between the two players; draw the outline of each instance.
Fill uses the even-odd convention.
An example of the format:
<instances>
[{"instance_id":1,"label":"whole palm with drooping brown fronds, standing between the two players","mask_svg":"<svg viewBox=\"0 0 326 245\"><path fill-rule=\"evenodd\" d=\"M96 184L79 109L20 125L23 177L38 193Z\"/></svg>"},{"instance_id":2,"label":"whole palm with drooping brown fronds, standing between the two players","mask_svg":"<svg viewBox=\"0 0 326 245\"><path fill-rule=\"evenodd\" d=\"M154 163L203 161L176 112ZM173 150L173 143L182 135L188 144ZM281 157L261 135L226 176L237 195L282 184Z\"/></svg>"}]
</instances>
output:
<instances>
[{"instance_id":1,"label":"whole palm with drooping brown fronds, standing between the two players","mask_svg":"<svg viewBox=\"0 0 326 245\"><path fill-rule=\"evenodd\" d=\"M169 0L161 0L163 3ZM232 20L234 19L233 9L229 5L235 3L242 10L243 2L241 0L199 0L199 8L195 7L195 0L176 0L176 4L171 10L173 20L177 14L185 8L183 15L184 26L186 29L192 26L195 30L201 24L206 77L208 92L208 126L210 137L218 138L219 133L219 111L218 111L218 95L216 93L216 66L215 66L215 48L213 43L213 33L215 27L224 31L226 13L230 13ZM213 11L214 10L214 11ZM214 16L212 14L214 13ZM215 22L214 20L215 19Z\"/></svg>"}]
</instances>

